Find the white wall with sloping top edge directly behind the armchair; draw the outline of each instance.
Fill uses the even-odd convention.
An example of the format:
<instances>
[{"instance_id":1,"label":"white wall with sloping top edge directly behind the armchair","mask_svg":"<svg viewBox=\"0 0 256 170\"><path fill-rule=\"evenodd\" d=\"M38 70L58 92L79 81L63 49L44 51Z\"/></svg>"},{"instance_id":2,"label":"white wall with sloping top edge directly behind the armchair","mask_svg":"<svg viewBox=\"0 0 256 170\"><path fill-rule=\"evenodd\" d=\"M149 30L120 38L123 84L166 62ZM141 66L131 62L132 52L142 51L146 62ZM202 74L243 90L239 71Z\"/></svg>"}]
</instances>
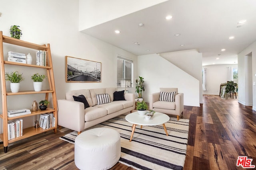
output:
<instances>
[{"instance_id":1,"label":"white wall with sloping top edge directly behind the armchair","mask_svg":"<svg viewBox=\"0 0 256 170\"><path fill-rule=\"evenodd\" d=\"M184 105L200 106L199 80L157 54L138 56L138 63L138 76L145 81L142 97L146 102L159 88L177 87L179 93L184 93Z\"/></svg>"}]
</instances>

